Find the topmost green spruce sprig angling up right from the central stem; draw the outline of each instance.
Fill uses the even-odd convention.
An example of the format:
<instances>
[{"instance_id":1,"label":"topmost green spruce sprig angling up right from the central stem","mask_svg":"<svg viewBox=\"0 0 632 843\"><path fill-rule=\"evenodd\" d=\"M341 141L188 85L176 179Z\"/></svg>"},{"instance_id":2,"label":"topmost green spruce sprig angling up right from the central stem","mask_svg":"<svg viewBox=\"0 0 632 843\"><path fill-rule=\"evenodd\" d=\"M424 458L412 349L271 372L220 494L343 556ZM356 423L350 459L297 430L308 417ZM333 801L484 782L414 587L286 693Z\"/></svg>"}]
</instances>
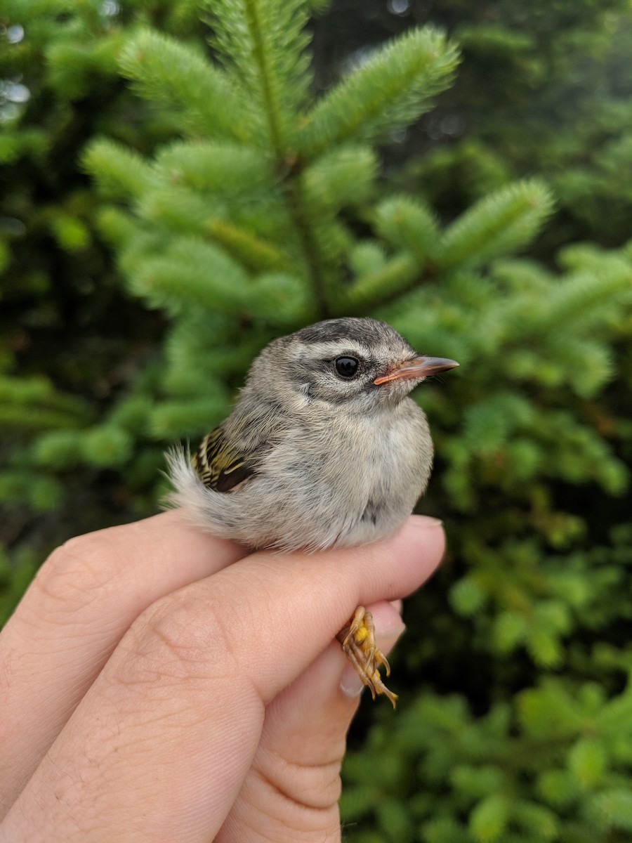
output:
<instances>
[{"instance_id":1,"label":"topmost green spruce sprig angling up right from the central stem","mask_svg":"<svg viewBox=\"0 0 632 843\"><path fill-rule=\"evenodd\" d=\"M298 133L299 153L314 158L410 124L447 88L457 62L456 47L430 27L389 41L313 107Z\"/></svg>"}]
</instances>

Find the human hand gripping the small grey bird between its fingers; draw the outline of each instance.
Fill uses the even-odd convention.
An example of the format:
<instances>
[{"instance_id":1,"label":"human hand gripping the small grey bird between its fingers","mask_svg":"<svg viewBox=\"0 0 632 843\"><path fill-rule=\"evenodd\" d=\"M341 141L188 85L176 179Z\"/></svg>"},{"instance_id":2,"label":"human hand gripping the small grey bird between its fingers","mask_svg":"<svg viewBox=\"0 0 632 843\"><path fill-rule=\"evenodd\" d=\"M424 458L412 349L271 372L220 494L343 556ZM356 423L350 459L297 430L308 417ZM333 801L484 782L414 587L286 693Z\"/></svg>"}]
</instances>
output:
<instances>
[{"instance_id":1,"label":"human hand gripping the small grey bird between its fingers","mask_svg":"<svg viewBox=\"0 0 632 843\"><path fill-rule=\"evenodd\" d=\"M181 512L67 542L0 634L0 840L340 840L360 689L334 636L364 604L388 650L388 601L443 543L413 516L374 545L248 554Z\"/></svg>"}]
</instances>

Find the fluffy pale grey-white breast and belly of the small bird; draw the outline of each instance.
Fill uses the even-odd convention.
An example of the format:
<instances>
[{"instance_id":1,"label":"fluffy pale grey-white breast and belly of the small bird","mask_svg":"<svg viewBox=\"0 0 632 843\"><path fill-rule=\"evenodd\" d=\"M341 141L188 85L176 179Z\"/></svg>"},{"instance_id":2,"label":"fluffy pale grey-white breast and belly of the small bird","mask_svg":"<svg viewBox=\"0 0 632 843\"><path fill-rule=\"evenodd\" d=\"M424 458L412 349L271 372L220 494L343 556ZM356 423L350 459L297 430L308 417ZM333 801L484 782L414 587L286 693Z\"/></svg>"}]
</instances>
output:
<instances>
[{"instance_id":1,"label":"fluffy pale grey-white breast and belly of the small bird","mask_svg":"<svg viewBox=\"0 0 632 843\"><path fill-rule=\"evenodd\" d=\"M204 486L176 450L170 502L208 532L250 547L356 545L399 528L426 488L431 461L426 416L404 399L380 414L297 420L252 481L231 492Z\"/></svg>"}]
</instances>

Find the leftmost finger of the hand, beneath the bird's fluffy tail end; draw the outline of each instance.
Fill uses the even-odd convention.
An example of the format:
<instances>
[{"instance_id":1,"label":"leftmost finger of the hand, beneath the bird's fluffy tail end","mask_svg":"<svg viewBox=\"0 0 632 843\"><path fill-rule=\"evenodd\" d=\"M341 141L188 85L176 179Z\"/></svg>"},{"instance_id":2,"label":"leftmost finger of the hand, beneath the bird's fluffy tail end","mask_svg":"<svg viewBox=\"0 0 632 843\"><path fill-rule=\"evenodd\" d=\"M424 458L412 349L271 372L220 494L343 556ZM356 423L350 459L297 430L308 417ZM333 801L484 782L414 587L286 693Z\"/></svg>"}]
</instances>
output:
<instances>
[{"instance_id":1,"label":"leftmost finger of the hand, beneath the bird's fluffy tail end","mask_svg":"<svg viewBox=\"0 0 632 843\"><path fill-rule=\"evenodd\" d=\"M0 633L0 816L137 616L247 552L178 510L78 536L49 556Z\"/></svg>"}]
</instances>

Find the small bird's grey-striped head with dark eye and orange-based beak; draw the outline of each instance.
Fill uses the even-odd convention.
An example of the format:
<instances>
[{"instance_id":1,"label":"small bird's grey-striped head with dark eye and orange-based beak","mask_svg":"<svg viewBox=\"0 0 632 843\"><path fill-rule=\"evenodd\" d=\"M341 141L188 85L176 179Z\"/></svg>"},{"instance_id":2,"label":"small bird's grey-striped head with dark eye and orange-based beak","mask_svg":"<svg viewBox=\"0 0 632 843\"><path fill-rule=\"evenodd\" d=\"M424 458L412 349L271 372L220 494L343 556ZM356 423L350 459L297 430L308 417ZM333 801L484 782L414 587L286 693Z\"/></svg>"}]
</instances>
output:
<instances>
[{"instance_id":1,"label":"small bird's grey-striped head with dark eye and orange-based beak","mask_svg":"<svg viewBox=\"0 0 632 843\"><path fill-rule=\"evenodd\" d=\"M428 375L455 366L417 354L378 319L326 319L272 341L254 361L247 388L283 405L322 402L367 413L398 404Z\"/></svg>"}]
</instances>

